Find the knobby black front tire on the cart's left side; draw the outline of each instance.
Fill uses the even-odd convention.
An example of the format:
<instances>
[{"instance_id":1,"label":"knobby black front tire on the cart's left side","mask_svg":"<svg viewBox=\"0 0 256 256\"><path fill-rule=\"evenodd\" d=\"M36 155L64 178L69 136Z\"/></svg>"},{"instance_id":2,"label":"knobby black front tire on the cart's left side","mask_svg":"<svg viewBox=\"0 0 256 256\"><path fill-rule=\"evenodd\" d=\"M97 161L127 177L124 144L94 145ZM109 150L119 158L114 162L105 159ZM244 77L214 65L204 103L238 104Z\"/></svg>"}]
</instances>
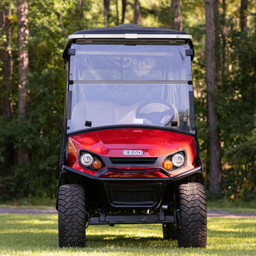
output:
<instances>
[{"instance_id":1,"label":"knobby black front tire on the cart's left side","mask_svg":"<svg viewBox=\"0 0 256 256\"><path fill-rule=\"evenodd\" d=\"M60 186L58 194L60 247L86 245L86 200L83 186Z\"/></svg>"}]
</instances>

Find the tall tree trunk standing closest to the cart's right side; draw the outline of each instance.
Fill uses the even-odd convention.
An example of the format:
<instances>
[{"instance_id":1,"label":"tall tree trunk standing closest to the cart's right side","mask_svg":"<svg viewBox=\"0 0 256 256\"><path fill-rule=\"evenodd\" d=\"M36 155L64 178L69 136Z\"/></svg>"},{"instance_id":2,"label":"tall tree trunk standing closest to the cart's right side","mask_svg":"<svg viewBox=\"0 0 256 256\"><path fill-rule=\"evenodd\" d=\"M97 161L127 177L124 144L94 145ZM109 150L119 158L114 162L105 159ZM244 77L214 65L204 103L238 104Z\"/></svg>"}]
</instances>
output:
<instances>
[{"instance_id":1,"label":"tall tree trunk standing closest to the cart's right side","mask_svg":"<svg viewBox=\"0 0 256 256\"><path fill-rule=\"evenodd\" d=\"M209 109L210 145L210 183L209 190L219 193L222 183L221 148L219 141L218 115L215 99L217 97L216 60L215 60L215 22L214 0L205 0L206 8L206 83Z\"/></svg>"}]
</instances>

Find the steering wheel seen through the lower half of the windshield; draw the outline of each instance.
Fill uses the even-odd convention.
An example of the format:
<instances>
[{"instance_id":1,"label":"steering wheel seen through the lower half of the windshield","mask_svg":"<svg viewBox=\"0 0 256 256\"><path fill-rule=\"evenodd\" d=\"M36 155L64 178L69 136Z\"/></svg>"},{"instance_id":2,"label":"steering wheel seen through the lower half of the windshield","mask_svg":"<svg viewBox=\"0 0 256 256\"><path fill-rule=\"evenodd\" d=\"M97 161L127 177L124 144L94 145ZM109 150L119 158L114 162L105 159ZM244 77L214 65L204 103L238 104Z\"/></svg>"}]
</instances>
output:
<instances>
[{"instance_id":1,"label":"steering wheel seen through the lower half of the windshield","mask_svg":"<svg viewBox=\"0 0 256 256\"><path fill-rule=\"evenodd\" d=\"M145 106L148 106L154 103L165 105L167 106L168 109L164 110L163 112L150 112L150 113L141 112L141 109L143 109ZM146 118L151 122L152 125L160 125L160 126L169 125L170 122L173 120L174 115L175 115L175 109L173 105L161 99L146 100L136 110L136 118ZM170 116L170 118L168 118L167 122L164 122L163 121L164 117L168 117L168 116Z\"/></svg>"}]
</instances>

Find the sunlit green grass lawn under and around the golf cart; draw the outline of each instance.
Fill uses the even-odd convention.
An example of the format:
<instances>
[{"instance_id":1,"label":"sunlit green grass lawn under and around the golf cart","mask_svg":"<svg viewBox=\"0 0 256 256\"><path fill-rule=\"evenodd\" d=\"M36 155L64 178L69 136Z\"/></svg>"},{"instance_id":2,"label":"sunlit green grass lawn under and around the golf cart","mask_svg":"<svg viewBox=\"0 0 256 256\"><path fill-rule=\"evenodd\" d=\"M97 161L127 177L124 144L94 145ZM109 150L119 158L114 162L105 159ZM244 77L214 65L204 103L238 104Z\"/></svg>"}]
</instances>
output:
<instances>
[{"instance_id":1,"label":"sunlit green grass lawn under and around the golf cart","mask_svg":"<svg viewBox=\"0 0 256 256\"><path fill-rule=\"evenodd\" d=\"M208 219L208 245L177 248L161 225L90 225L86 248L58 248L57 215L0 215L0 255L255 255L256 219Z\"/></svg>"}]
</instances>

